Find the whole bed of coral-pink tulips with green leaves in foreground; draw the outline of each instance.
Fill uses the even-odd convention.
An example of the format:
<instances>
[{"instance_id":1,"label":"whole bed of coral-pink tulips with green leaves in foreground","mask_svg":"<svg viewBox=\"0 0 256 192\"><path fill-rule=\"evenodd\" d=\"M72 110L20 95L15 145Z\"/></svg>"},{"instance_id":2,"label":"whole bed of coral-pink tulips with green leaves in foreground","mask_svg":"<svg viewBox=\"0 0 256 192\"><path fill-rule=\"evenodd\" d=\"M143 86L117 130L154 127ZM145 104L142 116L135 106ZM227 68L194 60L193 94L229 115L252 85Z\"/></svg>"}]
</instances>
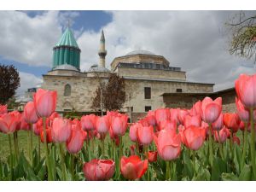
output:
<instances>
[{"instance_id":1,"label":"whole bed of coral-pink tulips with green leaves in foreground","mask_svg":"<svg viewBox=\"0 0 256 192\"><path fill-rule=\"evenodd\" d=\"M236 113L206 97L133 124L118 112L61 118L56 92L39 89L23 113L0 106L0 180L256 180L256 75L235 86Z\"/></svg>"}]
</instances>

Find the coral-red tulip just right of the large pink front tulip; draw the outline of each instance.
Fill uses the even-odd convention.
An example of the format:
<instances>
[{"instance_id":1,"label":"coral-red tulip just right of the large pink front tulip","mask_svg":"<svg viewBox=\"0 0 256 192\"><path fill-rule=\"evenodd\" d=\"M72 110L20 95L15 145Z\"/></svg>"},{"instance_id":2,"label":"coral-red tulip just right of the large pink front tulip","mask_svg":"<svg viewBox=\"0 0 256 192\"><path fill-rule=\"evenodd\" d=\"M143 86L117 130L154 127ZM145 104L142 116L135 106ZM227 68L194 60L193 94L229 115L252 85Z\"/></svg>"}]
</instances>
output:
<instances>
[{"instance_id":1,"label":"coral-red tulip just right of the large pink front tulip","mask_svg":"<svg viewBox=\"0 0 256 192\"><path fill-rule=\"evenodd\" d=\"M192 150L198 150L206 139L206 130L194 125L181 132L183 144Z\"/></svg>"}]
</instances>

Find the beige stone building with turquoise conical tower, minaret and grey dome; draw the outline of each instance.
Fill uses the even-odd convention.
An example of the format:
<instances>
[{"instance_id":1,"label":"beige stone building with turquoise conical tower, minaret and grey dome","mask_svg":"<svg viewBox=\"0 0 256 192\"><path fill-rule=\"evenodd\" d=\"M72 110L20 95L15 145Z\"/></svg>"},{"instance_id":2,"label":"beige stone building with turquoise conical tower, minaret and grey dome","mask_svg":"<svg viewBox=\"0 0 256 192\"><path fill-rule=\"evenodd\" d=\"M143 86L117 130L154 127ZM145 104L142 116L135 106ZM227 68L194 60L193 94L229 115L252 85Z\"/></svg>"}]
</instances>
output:
<instances>
[{"instance_id":1,"label":"beige stone building with turquoise conical tower, minaret and grey dome","mask_svg":"<svg viewBox=\"0 0 256 192\"><path fill-rule=\"evenodd\" d=\"M180 96L209 95L213 91L214 84L190 82L180 67L172 67L163 55L146 50L135 50L114 58L108 69L105 66L107 50L103 32L98 65L81 72L81 51L70 28L66 29L53 48L52 69L43 75L42 88L57 90L57 111L93 112L90 106L96 88L101 80L108 81L110 73L124 77L127 100L122 111L129 109L134 120L148 110L176 107L181 102ZM166 93L176 95L175 99L166 102ZM187 102L190 106L195 99L188 98Z\"/></svg>"}]
</instances>

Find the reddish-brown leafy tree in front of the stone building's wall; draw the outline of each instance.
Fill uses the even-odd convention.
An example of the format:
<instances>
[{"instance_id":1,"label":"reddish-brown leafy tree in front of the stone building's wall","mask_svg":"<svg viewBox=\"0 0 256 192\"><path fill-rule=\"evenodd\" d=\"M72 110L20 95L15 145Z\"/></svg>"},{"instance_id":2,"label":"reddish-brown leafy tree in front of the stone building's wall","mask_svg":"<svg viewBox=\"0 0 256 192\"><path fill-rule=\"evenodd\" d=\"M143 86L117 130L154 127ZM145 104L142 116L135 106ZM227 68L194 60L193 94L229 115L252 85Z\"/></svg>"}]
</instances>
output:
<instances>
[{"instance_id":1,"label":"reddish-brown leafy tree in front of the stone building's wall","mask_svg":"<svg viewBox=\"0 0 256 192\"><path fill-rule=\"evenodd\" d=\"M108 83L99 85L96 90L96 96L93 98L91 108L98 109L101 104L105 110L119 110L125 103L125 79L115 73L111 73Z\"/></svg>"}]
</instances>

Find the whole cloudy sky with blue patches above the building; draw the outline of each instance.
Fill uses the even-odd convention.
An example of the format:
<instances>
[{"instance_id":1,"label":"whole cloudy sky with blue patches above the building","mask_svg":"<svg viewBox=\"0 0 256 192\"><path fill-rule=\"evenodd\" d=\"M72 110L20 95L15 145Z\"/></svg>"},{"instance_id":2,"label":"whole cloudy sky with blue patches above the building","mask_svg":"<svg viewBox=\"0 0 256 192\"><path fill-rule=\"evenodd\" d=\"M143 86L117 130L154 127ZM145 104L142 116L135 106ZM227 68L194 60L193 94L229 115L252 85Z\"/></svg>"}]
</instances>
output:
<instances>
[{"instance_id":1,"label":"whole cloudy sky with blue patches above the building","mask_svg":"<svg viewBox=\"0 0 256 192\"><path fill-rule=\"evenodd\" d=\"M20 72L18 95L42 82L51 68L52 48L72 20L79 44L81 69L98 62L104 29L107 66L113 58L135 49L164 55L182 67L187 79L214 83L214 90L234 86L240 73L255 73L253 61L230 55L224 23L236 11L0 11L0 63Z\"/></svg>"}]
</instances>

